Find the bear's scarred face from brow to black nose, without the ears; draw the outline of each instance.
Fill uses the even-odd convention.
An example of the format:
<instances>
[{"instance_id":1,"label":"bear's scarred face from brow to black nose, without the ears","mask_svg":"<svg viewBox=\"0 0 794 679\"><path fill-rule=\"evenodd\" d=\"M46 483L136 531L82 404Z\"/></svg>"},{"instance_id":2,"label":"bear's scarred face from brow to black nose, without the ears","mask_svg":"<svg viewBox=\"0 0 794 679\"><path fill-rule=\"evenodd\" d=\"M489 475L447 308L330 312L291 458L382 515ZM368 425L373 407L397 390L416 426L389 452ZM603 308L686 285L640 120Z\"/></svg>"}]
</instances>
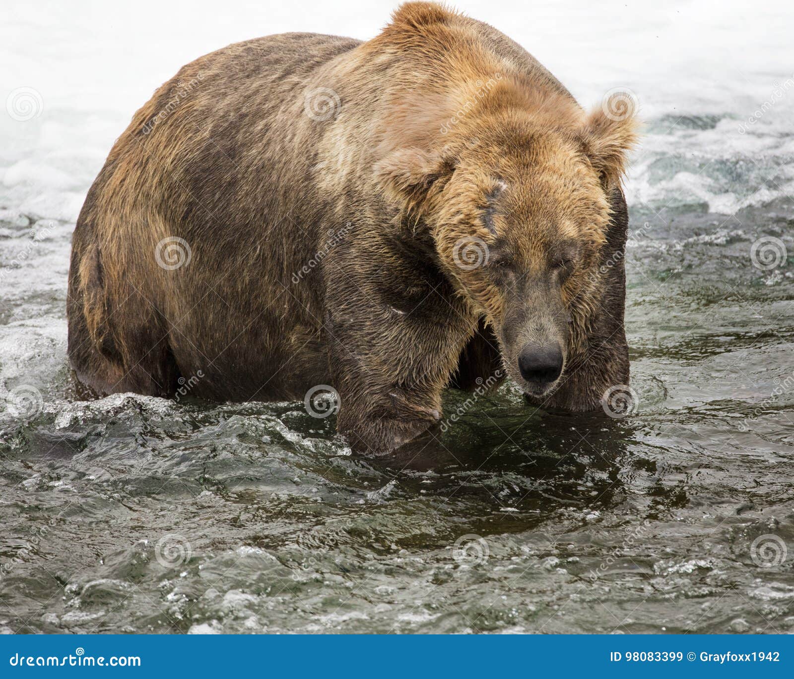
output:
<instances>
[{"instance_id":1,"label":"bear's scarred face from brow to black nose, without the ears","mask_svg":"<svg viewBox=\"0 0 794 679\"><path fill-rule=\"evenodd\" d=\"M609 207L576 148L534 140L522 150L502 149L487 171L482 152L461 155L435 201L432 232L441 266L493 328L507 374L542 397L565 374Z\"/></svg>"}]
</instances>

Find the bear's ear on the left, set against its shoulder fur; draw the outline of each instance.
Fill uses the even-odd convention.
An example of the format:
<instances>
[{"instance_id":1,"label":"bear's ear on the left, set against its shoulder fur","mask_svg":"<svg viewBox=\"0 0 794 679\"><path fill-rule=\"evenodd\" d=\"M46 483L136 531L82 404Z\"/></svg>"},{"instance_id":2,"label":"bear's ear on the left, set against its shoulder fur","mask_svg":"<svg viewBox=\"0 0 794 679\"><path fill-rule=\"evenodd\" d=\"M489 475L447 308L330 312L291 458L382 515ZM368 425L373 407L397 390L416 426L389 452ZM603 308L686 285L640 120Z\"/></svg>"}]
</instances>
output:
<instances>
[{"instance_id":1,"label":"bear's ear on the left, set against its shoulder fur","mask_svg":"<svg viewBox=\"0 0 794 679\"><path fill-rule=\"evenodd\" d=\"M430 190L455 169L438 152L399 148L375 164L375 175L387 196L407 212L421 213Z\"/></svg>"}]
</instances>

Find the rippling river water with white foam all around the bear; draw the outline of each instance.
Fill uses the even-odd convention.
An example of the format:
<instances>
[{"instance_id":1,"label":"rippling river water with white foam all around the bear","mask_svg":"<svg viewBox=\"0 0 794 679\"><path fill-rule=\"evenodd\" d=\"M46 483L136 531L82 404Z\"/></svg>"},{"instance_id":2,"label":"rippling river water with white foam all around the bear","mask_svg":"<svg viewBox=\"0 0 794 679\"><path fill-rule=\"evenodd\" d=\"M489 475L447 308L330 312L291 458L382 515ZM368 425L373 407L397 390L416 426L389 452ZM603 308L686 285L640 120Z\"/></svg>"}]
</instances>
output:
<instances>
[{"instance_id":1,"label":"rippling river water with white foam all around the bear","mask_svg":"<svg viewBox=\"0 0 794 679\"><path fill-rule=\"evenodd\" d=\"M771 4L465 6L580 101L620 86L639 102L635 407L572 416L510 385L473 407L449 392L454 426L421 455L373 460L303 403L84 400L64 305L85 192L156 85L248 36L371 36L391 6L12 2L0 631L794 631L794 17Z\"/></svg>"}]
</instances>

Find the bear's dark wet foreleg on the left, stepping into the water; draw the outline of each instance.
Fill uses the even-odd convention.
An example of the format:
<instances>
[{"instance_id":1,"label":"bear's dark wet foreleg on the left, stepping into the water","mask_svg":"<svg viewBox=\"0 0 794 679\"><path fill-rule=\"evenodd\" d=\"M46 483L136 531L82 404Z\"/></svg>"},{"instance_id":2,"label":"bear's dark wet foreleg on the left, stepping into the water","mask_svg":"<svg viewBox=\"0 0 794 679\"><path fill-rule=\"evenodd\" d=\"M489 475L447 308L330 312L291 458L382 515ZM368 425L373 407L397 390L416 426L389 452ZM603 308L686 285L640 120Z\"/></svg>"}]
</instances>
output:
<instances>
[{"instance_id":1,"label":"bear's dark wet foreleg on the left, stepping into the water","mask_svg":"<svg viewBox=\"0 0 794 679\"><path fill-rule=\"evenodd\" d=\"M439 420L441 390L477 319L444 283L360 262L326 275L324 328L338 431L353 450L381 454Z\"/></svg>"}]
</instances>

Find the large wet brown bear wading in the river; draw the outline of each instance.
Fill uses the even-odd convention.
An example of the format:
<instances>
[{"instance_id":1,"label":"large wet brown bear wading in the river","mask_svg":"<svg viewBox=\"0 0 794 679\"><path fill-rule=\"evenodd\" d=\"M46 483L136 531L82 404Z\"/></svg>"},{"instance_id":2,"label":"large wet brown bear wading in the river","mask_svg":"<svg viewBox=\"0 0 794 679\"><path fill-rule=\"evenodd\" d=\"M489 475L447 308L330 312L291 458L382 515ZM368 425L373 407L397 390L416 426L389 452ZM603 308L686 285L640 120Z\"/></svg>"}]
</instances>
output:
<instances>
[{"instance_id":1,"label":"large wet brown bear wading in the river","mask_svg":"<svg viewBox=\"0 0 794 679\"><path fill-rule=\"evenodd\" d=\"M491 26L426 2L367 42L202 56L118 138L72 244L68 351L98 393L339 397L391 451L445 386L599 407L628 380L630 116L584 113ZM187 381L187 382L186 382Z\"/></svg>"}]
</instances>

